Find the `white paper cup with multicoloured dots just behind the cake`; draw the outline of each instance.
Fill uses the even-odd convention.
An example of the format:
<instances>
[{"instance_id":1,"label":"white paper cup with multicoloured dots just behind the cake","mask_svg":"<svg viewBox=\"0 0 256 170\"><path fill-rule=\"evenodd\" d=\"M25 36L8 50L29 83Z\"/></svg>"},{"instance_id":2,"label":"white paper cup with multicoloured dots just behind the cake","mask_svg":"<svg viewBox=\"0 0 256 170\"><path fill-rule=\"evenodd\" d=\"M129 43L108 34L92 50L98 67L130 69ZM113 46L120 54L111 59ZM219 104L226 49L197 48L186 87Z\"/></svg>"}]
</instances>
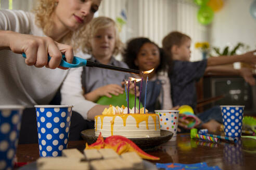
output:
<instances>
[{"instance_id":1,"label":"white paper cup with multicoloured dots just behind the cake","mask_svg":"<svg viewBox=\"0 0 256 170\"><path fill-rule=\"evenodd\" d=\"M159 115L160 129L173 132L171 140L175 140L178 127L178 110L155 110Z\"/></svg>"}]
</instances>

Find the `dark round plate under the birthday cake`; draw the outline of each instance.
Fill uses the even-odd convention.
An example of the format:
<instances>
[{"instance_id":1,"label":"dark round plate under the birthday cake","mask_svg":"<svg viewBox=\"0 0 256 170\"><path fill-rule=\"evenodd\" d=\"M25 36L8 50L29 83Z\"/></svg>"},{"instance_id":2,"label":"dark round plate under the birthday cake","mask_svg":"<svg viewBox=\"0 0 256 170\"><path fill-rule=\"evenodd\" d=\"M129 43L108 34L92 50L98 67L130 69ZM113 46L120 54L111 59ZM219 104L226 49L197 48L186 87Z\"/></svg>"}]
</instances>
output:
<instances>
[{"instance_id":1,"label":"dark round plate under the birthday cake","mask_svg":"<svg viewBox=\"0 0 256 170\"><path fill-rule=\"evenodd\" d=\"M152 149L153 147L159 146L166 143L173 136L170 131L160 130L160 136L158 137L144 137L144 138L129 138L132 140L140 149ZM91 145L95 143L98 136L95 136L94 129L87 129L81 132L83 139ZM105 139L106 137L104 137Z\"/></svg>"}]
</instances>

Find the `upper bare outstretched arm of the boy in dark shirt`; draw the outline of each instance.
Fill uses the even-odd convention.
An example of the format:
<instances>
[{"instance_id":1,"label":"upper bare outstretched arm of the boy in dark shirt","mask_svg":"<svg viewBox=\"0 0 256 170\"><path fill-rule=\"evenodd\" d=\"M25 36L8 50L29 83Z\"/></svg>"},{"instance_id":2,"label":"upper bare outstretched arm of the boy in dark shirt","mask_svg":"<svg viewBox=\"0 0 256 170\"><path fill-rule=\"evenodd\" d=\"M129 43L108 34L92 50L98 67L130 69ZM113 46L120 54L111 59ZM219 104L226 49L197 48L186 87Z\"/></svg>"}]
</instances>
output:
<instances>
[{"instance_id":1,"label":"upper bare outstretched arm of the boy in dark shirt","mask_svg":"<svg viewBox=\"0 0 256 170\"><path fill-rule=\"evenodd\" d=\"M245 62L250 65L255 65L256 55L253 54L254 52L256 52L256 50L241 55L211 57L207 61L207 66L231 64L234 62Z\"/></svg>"}]
</instances>

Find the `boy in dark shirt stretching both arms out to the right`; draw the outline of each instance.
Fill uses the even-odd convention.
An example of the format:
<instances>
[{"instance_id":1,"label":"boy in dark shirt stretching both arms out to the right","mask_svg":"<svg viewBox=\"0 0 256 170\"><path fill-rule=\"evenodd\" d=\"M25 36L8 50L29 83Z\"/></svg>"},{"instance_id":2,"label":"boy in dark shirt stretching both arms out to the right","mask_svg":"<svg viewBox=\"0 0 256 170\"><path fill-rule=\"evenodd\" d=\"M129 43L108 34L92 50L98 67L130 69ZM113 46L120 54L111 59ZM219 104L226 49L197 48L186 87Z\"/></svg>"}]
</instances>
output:
<instances>
[{"instance_id":1,"label":"boy in dark shirt stretching both arms out to the right","mask_svg":"<svg viewBox=\"0 0 256 170\"><path fill-rule=\"evenodd\" d=\"M162 40L164 51L169 58L173 60L169 69L169 78L172 84L172 100L174 105L189 105L196 109L196 81L198 81L205 73L229 73L241 75L246 82L251 85L255 84L255 79L248 68L240 70L221 67L217 65L229 64L234 62L246 62L256 64L256 55L248 52L243 55L234 55L232 57L219 56L217 58L209 58L198 62L189 62L190 59L191 38L180 32L171 32ZM202 128L209 131L216 131L222 123L221 109L215 106L198 115L202 121ZM179 123L181 127L184 124ZM186 127L185 127L186 128Z\"/></svg>"}]
</instances>

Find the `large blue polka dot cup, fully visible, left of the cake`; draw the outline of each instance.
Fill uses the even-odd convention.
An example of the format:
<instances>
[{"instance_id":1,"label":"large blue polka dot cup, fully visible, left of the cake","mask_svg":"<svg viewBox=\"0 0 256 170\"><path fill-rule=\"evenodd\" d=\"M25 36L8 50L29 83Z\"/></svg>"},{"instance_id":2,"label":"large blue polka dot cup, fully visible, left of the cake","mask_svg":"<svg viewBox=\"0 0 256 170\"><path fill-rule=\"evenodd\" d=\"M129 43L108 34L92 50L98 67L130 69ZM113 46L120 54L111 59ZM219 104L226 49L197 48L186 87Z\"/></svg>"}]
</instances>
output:
<instances>
[{"instance_id":1,"label":"large blue polka dot cup, fully visible, left of the cake","mask_svg":"<svg viewBox=\"0 0 256 170\"><path fill-rule=\"evenodd\" d=\"M36 105L40 157L58 157L67 148L72 106Z\"/></svg>"}]
</instances>

